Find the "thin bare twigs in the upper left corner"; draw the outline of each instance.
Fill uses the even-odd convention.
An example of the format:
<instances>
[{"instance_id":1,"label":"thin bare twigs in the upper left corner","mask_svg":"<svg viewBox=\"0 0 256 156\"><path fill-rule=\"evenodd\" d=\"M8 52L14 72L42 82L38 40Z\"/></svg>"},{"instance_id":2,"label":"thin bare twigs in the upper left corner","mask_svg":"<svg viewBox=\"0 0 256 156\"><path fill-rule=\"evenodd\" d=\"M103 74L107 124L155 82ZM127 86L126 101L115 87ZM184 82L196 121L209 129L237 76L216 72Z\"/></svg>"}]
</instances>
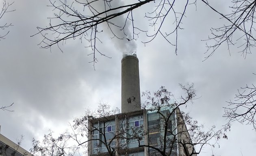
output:
<instances>
[{"instance_id":1,"label":"thin bare twigs in the upper left corner","mask_svg":"<svg viewBox=\"0 0 256 156\"><path fill-rule=\"evenodd\" d=\"M0 20L1 20L0 29L2 30L9 28L9 26L13 26L11 23L2 22L2 18L6 13L15 11L9 8L13 3L14 2L9 3L9 2L6 2L6 0L2 0L2 9L0 11ZM9 34L9 31L4 32L3 34L1 33L0 40L5 39L6 35L8 34Z\"/></svg>"}]
</instances>

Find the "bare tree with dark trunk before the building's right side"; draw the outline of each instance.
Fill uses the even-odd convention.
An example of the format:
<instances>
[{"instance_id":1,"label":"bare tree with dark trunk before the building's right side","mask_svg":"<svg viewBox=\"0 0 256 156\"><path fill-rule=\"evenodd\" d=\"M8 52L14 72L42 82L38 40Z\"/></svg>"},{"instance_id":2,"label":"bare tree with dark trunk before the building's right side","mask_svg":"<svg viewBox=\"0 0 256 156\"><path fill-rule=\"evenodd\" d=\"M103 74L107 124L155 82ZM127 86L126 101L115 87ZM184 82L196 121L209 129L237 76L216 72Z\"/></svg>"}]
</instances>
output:
<instances>
[{"instance_id":1,"label":"bare tree with dark trunk before the building's right side","mask_svg":"<svg viewBox=\"0 0 256 156\"><path fill-rule=\"evenodd\" d=\"M148 137L148 144L139 146L148 147L150 155L176 156L178 152L181 156L196 156L206 145L215 147L219 145L219 139L227 139L225 132L230 130L229 125L219 130L212 126L205 131L204 125L198 124L189 113L180 112L180 106L187 105L195 98L193 84L181 85L181 88L185 93L179 100L165 87L153 95L143 93L148 99L143 108L151 113L148 113L148 130L144 133ZM142 139L139 138L139 142Z\"/></svg>"}]
</instances>

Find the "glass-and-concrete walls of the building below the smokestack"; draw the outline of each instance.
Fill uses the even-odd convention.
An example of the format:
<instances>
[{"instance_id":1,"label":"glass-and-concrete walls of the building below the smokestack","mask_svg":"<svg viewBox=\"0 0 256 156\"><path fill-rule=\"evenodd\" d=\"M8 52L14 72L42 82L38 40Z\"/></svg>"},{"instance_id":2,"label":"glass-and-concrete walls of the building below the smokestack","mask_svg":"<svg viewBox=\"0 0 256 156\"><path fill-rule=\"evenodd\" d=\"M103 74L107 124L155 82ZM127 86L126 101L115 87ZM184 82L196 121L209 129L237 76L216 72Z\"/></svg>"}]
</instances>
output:
<instances>
[{"instance_id":1,"label":"glass-and-concrete walls of the building below the smokestack","mask_svg":"<svg viewBox=\"0 0 256 156\"><path fill-rule=\"evenodd\" d=\"M166 110L164 109L162 113L164 113L165 111L170 111L170 108ZM103 120L102 118L89 120L89 128L91 128L91 132L89 132L88 139L92 139L92 141L89 141L88 143L88 155L107 155L106 147L104 147L102 143L100 145L100 140L102 140L101 133L104 131L105 137L108 138L107 143L108 140L111 140L111 137L108 137L108 133L111 134L112 137L117 138L115 139L115 141L111 143L111 146L115 148L115 156L149 156L150 150L148 149L148 147L138 147L139 144L136 140L130 140L128 142L126 140L120 140L119 138L122 138L122 136L119 135L119 132L121 129L123 129L125 130L125 132L123 132L124 135L130 135L132 134L132 131L135 132L136 128L142 126L141 128L143 128L145 132L148 132L145 133L148 135L144 136L144 141L141 141L141 144L144 143L145 145L153 145L154 143L156 143L157 146L159 141L158 137L163 137L162 132L160 132L163 129L161 129L161 124L163 123L161 122L160 118L157 119L157 117L155 116L158 116L159 118L159 114L157 114L156 112L152 113L146 110L141 110L104 117ZM153 122L155 120L157 122ZM176 139L178 139L179 142L189 143L189 145L186 145L185 147L178 143L178 151L177 146L175 146L176 148L172 149L171 156L177 156L177 154L178 156L189 156L193 152L193 145L191 143L189 132L184 123L179 108L176 109L176 115L173 115L173 117L171 117L170 120L170 123L173 123L173 127L171 128L171 130L174 132L174 134L172 134L174 136L167 137L175 137ZM104 123L105 127L102 126L102 123ZM175 127L175 125L177 127ZM160 131L152 131L151 129L154 128L154 126L157 126L156 129ZM96 128L95 132L92 132L93 128ZM158 133L159 136L157 137ZM154 151L152 152L154 153ZM157 152L155 152L154 154L157 154ZM193 156L196 156L196 154L193 154Z\"/></svg>"}]
</instances>

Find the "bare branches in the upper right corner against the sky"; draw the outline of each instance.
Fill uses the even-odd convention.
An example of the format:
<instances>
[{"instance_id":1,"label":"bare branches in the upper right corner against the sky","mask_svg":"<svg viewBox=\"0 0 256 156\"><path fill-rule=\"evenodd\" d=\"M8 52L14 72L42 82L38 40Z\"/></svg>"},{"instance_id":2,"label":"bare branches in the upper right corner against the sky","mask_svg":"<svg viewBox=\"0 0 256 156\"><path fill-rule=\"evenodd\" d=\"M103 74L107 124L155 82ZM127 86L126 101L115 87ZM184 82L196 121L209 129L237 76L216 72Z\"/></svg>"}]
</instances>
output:
<instances>
[{"instance_id":1,"label":"bare branches in the upper right corner against the sky","mask_svg":"<svg viewBox=\"0 0 256 156\"><path fill-rule=\"evenodd\" d=\"M214 9L206 0L202 0L213 11L226 19L228 25L223 25L218 28L211 28L211 35L205 41L213 41L213 44L206 47L207 59L219 48L220 45L226 43L230 52L230 45L237 45L240 49L241 55L246 57L251 54L251 49L256 45L256 37L254 37L255 29L255 13L256 0L232 0L233 5L230 6L231 13L223 14L217 9Z\"/></svg>"}]
</instances>

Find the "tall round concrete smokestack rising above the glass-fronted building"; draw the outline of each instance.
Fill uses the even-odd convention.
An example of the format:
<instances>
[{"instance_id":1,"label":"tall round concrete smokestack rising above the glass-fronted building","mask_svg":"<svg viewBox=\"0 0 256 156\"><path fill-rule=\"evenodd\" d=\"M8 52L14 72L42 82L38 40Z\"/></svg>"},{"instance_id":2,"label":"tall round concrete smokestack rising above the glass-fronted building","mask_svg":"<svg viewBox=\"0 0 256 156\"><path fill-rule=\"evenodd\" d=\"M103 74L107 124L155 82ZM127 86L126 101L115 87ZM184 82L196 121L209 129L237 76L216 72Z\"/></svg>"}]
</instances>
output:
<instances>
[{"instance_id":1,"label":"tall round concrete smokestack rising above the glass-fronted building","mask_svg":"<svg viewBox=\"0 0 256 156\"><path fill-rule=\"evenodd\" d=\"M124 53L121 66L121 112L127 113L141 110L139 59L135 52Z\"/></svg>"}]
</instances>

